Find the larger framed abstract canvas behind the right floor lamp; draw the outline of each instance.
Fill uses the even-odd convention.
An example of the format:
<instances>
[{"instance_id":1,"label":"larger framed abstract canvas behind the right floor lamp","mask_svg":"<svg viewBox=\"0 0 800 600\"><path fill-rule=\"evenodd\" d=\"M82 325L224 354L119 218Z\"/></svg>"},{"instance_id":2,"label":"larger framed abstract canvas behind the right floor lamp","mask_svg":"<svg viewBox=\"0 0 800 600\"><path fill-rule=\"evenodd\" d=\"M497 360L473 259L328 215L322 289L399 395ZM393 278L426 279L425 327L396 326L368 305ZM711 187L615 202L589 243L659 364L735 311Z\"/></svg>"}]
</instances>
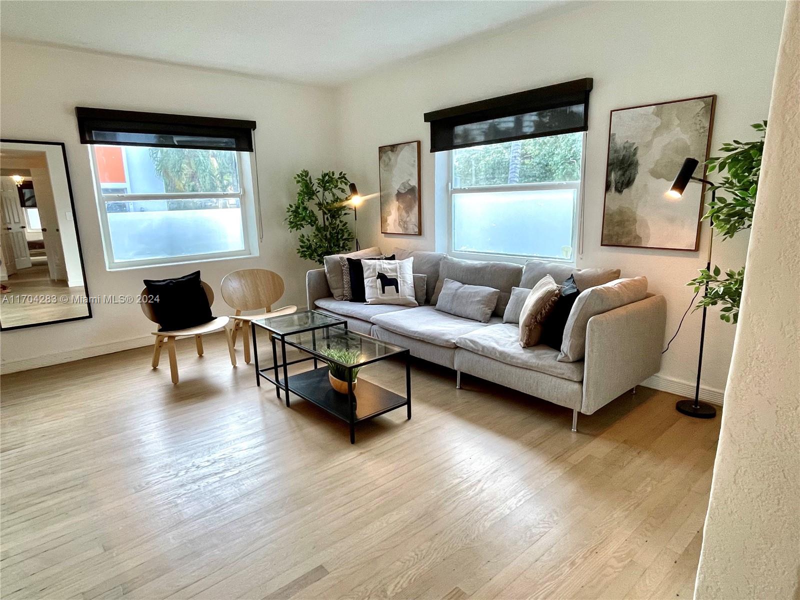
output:
<instances>
[{"instance_id":1,"label":"larger framed abstract canvas behind the right floor lamp","mask_svg":"<svg viewBox=\"0 0 800 600\"><path fill-rule=\"evenodd\" d=\"M602 246L698 250L705 186L668 199L687 157L708 158L716 95L611 111ZM695 177L702 177L698 168Z\"/></svg>"}]
</instances>

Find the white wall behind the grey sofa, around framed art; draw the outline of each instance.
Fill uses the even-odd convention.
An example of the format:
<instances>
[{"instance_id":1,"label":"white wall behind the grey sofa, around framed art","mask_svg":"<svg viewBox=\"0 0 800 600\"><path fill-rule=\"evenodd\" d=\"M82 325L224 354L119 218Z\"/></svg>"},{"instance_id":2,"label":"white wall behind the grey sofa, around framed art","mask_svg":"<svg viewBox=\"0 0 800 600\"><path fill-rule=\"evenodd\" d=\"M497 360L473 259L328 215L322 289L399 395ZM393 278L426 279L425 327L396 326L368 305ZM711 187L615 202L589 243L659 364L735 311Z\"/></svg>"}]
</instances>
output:
<instances>
[{"instance_id":1,"label":"white wall behind the grey sofa, around framed art","mask_svg":"<svg viewBox=\"0 0 800 600\"><path fill-rule=\"evenodd\" d=\"M766 118L782 22L782 2L593 2L573 4L502 34L464 42L402 66L379 70L338 94L338 167L362 195L378 191L378 146L422 140L422 236L379 233L378 202L359 210L362 246L433 250L434 155L422 114L571 79L592 77L586 141L584 252L578 266L619 266L644 274L665 294L668 334L692 294L684 284L706 263L700 252L602 248L609 111L624 106L718 94L714 148L750 138ZM363 214L363 216L362 216ZM747 234L718 244L714 262L739 267ZM651 385L694 392L700 313L690 314ZM703 366L704 396L719 401L734 327L710 311Z\"/></svg>"}]
</instances>

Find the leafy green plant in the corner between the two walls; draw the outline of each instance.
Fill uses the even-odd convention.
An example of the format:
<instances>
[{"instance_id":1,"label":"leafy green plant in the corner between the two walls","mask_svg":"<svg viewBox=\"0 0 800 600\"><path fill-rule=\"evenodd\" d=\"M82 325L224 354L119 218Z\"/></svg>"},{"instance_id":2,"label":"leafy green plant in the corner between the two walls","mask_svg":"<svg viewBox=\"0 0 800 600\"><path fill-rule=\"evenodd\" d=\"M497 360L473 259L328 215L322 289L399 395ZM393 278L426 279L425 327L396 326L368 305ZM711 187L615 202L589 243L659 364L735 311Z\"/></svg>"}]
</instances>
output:
<instances>
[{"instance_id":1,"label":"leafy green plant in the corner between the two walls","mask_svg":"<svg viewBox=\"0 0 800 600\"><path fill-rule=\"evenodd\" d=\"M308 170L294 176L297 199L286 207L290 231L300 231L297 252L322 265L322 258L351 250L353 232L345 220L350 180L341 171L326 171L311 178Z\"/></svg>"}]
</instances>

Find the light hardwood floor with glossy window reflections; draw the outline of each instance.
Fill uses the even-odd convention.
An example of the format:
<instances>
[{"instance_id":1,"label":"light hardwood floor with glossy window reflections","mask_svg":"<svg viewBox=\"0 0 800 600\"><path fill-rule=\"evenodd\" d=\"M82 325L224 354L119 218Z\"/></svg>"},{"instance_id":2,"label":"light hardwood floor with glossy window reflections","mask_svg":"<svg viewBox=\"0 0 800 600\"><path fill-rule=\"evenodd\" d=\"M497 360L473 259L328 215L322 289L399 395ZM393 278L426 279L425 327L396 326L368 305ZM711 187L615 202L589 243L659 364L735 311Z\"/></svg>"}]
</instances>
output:
<instances>
[{"instance_id":1,"label":"light hardwood floor with glossy window reflections","mask_svg":"<svg viewBox=\"0 0 800 600\"><path fill-rule=\"evenodd\" d=\"M418 363L414 417L351 446L221 335L177 346L178 386L151 348L2 377L2 598L692 596L719 419L670 394L573 434L570 410ZM399 363L361 376L404 390Z\"/></svg>"}]
</instances>

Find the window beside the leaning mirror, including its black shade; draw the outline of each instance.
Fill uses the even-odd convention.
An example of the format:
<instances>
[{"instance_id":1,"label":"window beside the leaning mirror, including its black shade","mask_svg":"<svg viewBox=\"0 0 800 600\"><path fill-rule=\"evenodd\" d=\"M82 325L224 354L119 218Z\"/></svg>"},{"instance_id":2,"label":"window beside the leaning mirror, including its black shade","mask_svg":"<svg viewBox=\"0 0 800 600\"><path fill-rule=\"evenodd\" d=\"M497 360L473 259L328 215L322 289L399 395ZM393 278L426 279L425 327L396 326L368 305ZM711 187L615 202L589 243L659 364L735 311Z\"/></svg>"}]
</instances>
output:
<instances>
[{"instance_id":1,"label":"window beside the leaning mirror, including its black shade","mask_svg":"<svg viewBox=\"0 0 800 600\"><path fill-rule=\"evenodd\" d=\"M258 255L250 122L96 109L78 122L110 270Z\"/></svg>"}]
</instances>

